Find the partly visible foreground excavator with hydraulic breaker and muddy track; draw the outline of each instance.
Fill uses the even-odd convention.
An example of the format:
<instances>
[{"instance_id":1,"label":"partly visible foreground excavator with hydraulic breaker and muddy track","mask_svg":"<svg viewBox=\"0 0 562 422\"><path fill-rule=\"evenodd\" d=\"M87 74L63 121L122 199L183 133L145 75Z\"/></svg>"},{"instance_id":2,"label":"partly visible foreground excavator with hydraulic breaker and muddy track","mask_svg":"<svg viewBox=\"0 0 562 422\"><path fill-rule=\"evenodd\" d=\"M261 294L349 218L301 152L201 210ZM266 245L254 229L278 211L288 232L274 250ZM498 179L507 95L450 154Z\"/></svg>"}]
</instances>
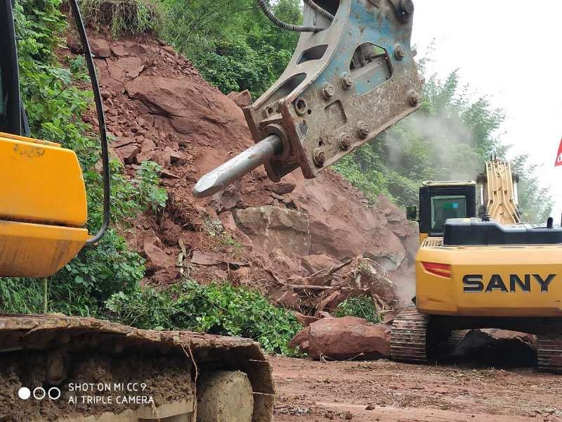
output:
<instances>
[{"instance_id":1,"label":"partly visible foreground excavator with hydraulic breaker and muddy track","mask_svg":"<svg viewBox=\"0 0 562 422\"><path fill-rule=\"evenodd\" d=\"M258 3L275 25L301 32L299 44L279 81L244 110L256 146L204 177L195 187L198 196L263 162L275 181L297 167L314 177L419 107L421 80L410 48L412 1L304 0L303 25L283 23L265 0ZM26 136L12 3L0 0L2 277L51 276L82 248L95 248L110 222L102 101L76 1L70 6L98 111L103 227L94 236L84 229L86 189L74 152ZM0 315L0 381L4 389L13 388L0 394L2 421L273 418L270 365L256 343L242 338L144 331L58 315ZM32 397L20 402L18 394L24 400L26 388ZM76 396L78 403L70 401ZM80 396L91 399L80 402ZM145 398L115 402L115 396ZM94 397L101 400L94 403Z\"/></svg>"}]
</instances>

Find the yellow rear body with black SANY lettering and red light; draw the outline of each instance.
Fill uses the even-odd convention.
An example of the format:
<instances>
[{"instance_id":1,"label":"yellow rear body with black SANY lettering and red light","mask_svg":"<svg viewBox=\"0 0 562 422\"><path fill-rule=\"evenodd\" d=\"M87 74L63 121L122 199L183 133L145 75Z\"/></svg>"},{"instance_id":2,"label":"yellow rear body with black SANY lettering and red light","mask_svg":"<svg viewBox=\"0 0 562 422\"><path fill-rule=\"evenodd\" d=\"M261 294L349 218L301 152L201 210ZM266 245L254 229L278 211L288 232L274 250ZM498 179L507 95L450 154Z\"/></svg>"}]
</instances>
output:
<instances>
[{"instance_id":1,"label":"yellow rear body with black SANY lettering and red light","mask_svg":"<svg viewBox=\"0 0 562 422\"><path fill-rule=\"evenodd\" d=\"M562 316L562 245L424 243L416 305L430 315Z\"/></svg>"}]
</instances>

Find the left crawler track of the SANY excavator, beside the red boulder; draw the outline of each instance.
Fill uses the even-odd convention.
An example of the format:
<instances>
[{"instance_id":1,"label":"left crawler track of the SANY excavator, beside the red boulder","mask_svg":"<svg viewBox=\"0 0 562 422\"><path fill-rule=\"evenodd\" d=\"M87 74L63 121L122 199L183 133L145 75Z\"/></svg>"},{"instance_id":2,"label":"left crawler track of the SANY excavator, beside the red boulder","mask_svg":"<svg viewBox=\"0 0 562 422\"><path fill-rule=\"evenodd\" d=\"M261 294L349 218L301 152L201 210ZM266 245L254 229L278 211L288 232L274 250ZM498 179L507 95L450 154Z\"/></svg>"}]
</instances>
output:
<instances>
[{"instance_id":1,"label":"left crawler track of the SANY excavator, beside the red boulder","mask_svg":"<svg viewBox=\"0 0 562 422\"><path fill-rule=\"evenodd\" d=\"M407 305L394 319L391 331L391 358L400 362L427 362L426 337L429 316Z\"/></svg>"}]
</instances>

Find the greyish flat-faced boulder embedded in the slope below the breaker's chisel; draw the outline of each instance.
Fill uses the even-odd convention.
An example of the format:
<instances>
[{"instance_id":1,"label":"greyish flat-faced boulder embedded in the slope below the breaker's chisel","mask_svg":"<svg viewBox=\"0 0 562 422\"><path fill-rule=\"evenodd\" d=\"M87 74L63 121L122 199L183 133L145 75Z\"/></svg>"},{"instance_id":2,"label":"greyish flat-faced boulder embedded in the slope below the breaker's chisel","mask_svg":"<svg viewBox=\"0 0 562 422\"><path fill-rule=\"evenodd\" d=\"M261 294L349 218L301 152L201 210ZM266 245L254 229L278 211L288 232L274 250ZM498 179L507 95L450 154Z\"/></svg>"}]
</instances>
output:
<instances>
[{"instance_id":1,"label":"greyish flat-faced boulder embedded in the slope below the breaker's chisel","mask_svg":"<svg viewBox=\"0 0 562 422\"><path fill-rule=\"evenodd\" d=\"M308 216L303 212L266 205L234 210L233 216L237 227L263 250L301 256L311 250Z\"/></svg>"}]
</instances>

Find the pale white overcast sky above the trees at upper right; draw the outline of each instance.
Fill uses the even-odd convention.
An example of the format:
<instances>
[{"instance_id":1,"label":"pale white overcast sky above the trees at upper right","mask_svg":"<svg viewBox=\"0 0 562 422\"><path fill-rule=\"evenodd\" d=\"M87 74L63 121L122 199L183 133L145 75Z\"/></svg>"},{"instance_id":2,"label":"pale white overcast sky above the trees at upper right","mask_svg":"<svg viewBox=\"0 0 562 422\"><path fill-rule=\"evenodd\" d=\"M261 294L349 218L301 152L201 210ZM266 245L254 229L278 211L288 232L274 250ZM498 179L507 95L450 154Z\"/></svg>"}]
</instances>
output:
<instances>
[{"instance_id":1,"label":"pale white overcast sky above the trees at upper right","mask_svg":"<svg viewBox=\"0 0 562 422\"><path fill-rule=\"evenodd\" d=\"M488 95L506 121L499 134L512 154L542 165L562 212L562 167L554 168L562 137L562 1L414 0L412 45L431 53L429 73L459 69L462 84Z\"/></svg>"}]
</instances>

